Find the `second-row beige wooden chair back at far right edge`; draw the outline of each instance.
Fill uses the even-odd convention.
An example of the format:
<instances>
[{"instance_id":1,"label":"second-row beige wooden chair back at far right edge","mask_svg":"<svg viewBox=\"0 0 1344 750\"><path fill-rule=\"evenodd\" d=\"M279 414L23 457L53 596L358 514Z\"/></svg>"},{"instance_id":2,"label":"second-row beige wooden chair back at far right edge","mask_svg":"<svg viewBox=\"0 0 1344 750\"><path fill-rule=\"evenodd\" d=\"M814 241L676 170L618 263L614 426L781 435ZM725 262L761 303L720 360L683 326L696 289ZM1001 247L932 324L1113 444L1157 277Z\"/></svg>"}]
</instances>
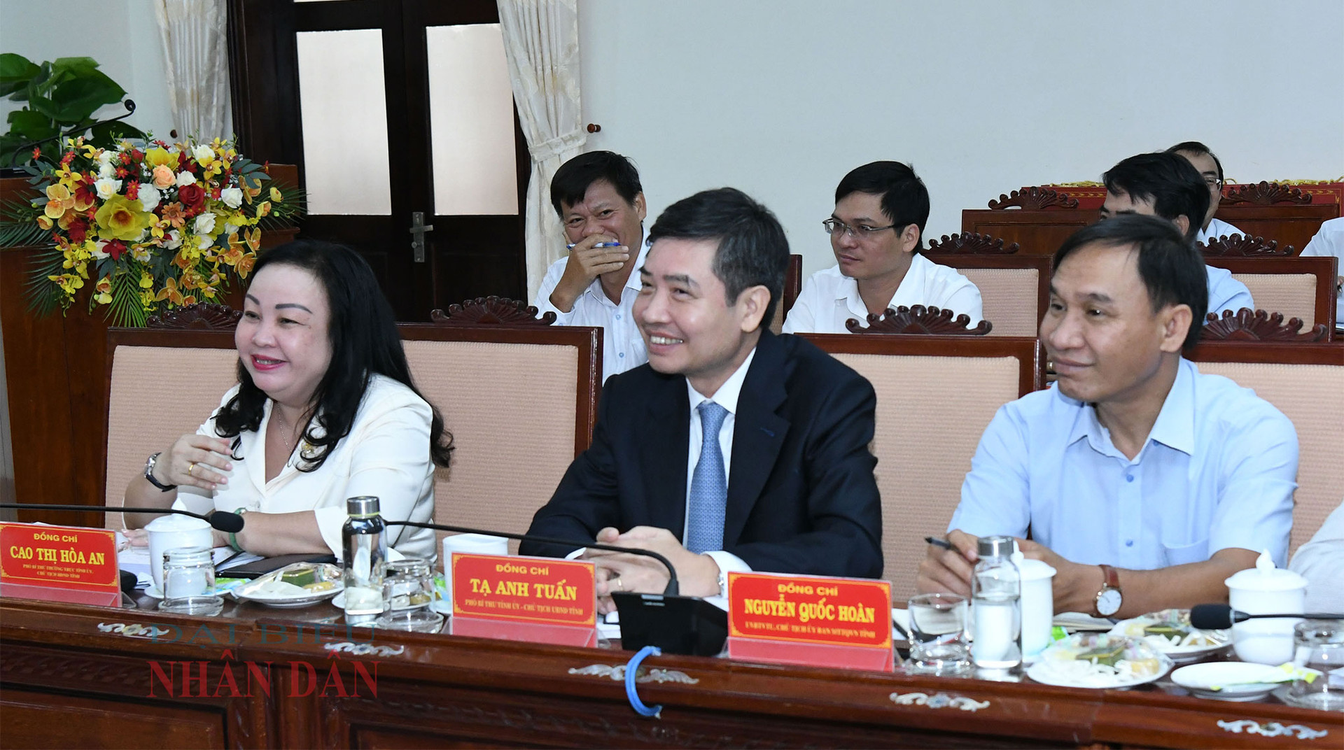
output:
<instances>
[{"instance_id":1,"label":"second-row beige wooden chair back at far right edge","mask_svg":"<svg viewBox=\"0 0 1344 750\"><path fill-rule=\"evenodd\" d=\"M1246 285L1255 306L1297 317L1314 327L1335 329L1335 280L1339 258L1204 258L1211 266L1232 272Z\"/></svg>"}]
</instances>

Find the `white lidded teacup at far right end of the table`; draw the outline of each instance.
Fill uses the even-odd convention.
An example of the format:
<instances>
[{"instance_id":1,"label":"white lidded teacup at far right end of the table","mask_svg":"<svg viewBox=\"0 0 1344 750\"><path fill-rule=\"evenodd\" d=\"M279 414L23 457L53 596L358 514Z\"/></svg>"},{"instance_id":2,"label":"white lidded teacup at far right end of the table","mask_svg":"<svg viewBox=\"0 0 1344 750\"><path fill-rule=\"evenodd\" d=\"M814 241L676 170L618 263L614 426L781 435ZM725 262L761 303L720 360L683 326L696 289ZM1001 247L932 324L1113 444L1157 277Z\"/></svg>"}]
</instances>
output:
<instances>
[{"instance_id":1,"label":"white lidded teacup at far right end of the table","mask_svg":"<svg viewBox=\"0 0 1344 750\"><path fill-rule=\"evenodd\" d=\"M1302 613L1306 579L1292 570L1274 567L1262 554L1255 567L1238 571L1224 581L1232 609L1247 614ZM1246 620L1232 625L1232 651L1242 661L1278 665L1293 660L1296 617Z\"/></svg>"}]
</instances>

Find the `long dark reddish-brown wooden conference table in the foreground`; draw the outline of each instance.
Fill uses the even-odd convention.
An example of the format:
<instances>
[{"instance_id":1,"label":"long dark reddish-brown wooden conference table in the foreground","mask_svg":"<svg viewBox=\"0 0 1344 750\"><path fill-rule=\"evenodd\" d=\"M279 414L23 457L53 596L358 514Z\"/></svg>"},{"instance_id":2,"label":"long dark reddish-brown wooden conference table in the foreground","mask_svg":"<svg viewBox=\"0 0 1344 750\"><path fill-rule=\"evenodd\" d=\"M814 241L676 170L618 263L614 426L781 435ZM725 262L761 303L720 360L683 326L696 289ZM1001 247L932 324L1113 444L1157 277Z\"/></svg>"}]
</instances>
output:
<instances>
[{"instance_id":1,"label":"long dark reddish-brown wooden conference table in the foreground","mask_svg":"<svg viewBox=\"0 0 1344 750\"><path fill-rule=\"evenodd\" d=\"M218 617L0 599L4 747L1344 747L1344 714L1128 691L645 660L617 647L348 628L323 602ZM613 676L614 672L614 676Z\"/></svg>"}]
</instances>

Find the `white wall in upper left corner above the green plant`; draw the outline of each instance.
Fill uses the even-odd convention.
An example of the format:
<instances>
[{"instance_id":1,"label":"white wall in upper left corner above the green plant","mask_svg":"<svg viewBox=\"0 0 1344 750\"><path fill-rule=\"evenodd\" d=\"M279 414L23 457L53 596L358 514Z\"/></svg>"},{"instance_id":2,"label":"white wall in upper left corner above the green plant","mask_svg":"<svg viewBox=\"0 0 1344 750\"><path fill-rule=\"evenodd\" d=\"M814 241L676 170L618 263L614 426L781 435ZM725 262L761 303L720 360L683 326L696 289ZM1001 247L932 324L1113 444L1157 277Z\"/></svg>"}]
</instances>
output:
<instances>
[{"instance_id":1,"label":"white wall in upper left corner above the green plant","mask_svg":"<svg viewBox=\"0 0 1344 750\"><path fill-rule=\"evenodd\" d=\"M141 130L171 140L172 112L164 79L164 48L151 0L0 0L0 52L17 52L35 63L87 56L126 90L136 113L126 118ZM22 102L0 99L4 117ZM121 105L95 117L125 113Z\"/></svg>"}]
</instances>

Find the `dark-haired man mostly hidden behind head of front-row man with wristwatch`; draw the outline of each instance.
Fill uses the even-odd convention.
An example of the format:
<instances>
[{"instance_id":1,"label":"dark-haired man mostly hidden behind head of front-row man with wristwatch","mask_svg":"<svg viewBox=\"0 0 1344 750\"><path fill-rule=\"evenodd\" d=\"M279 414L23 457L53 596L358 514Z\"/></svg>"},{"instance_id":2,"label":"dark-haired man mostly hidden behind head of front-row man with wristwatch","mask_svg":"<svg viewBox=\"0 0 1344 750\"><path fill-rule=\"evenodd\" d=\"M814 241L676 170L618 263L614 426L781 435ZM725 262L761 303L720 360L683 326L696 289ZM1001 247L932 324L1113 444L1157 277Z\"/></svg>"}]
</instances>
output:
<instances>
[{"instance_id":1,"label":"dark-haired man mostly hidden behind head of front-row man with wristwatch","mask_svg":"<svg viewBox=\"0 0 1344 750\"><path fill-rule=\"evenodd\" d=\"M1102 220L1124 214L1161 216L1176 224L1187 242L1195 242L1208 212L1210 194L1204 177L1184 156L1140 153L1116 164L1101 179L1106 183ZM1255 309L1250 289L1232 278L1232 272L1207 265L1203 270L1208 281L1208 312ZM1203 325L1203 319L1199 323Z\"/></svg>"}]
</instances>

